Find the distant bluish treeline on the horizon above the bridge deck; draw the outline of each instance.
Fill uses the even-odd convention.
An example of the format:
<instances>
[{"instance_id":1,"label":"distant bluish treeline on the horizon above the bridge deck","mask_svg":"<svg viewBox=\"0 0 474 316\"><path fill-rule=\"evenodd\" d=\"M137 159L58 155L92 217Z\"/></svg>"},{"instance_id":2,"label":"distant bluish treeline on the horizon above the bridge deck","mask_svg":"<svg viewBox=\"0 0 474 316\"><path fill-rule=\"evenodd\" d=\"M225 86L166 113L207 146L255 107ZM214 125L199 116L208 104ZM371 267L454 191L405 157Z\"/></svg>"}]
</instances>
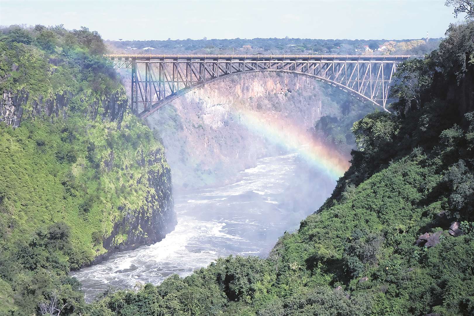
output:
<instances>
[{"instance_id":1,"label":"distant bluish treeline on the horizon above the bridge deck","mask_svg":"<svg viewBox=\"0 0 474 316\"><path fill-rule=\"evenodd\" d=\"M442 38L421 39L310 39L310 38L253 38L253 39L168 39L168 40L123 40L105 43L113 51L118 52L145 52L155 54L332 54L332 55L360 55L366 53L368 46L377 54L406 54L423 56L438 48ZM377 51L379 46L385 46ZM136 48L136 49L131 49ZM372 52L371 52L372 53Z\"/></svg>"}]
</instances>

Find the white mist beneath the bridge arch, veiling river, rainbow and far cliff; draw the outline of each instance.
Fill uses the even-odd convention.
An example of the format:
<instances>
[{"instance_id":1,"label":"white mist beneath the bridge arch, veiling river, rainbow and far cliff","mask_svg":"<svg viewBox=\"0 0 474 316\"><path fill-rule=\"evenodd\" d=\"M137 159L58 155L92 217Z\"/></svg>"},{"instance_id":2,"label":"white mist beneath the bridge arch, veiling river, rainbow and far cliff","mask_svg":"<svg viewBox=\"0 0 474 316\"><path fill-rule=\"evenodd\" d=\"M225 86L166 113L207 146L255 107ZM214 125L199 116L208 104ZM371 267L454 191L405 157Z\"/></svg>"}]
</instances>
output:
<instances>
[{"instance_id":1,"label":"white mist beneath the bridge arch, veiling river, rainbow and far cliff","mask_svg":"<svg viewBox=\"0 0 474 316\"><path fill-rule=\"evenodd\" d=\"M187 276L219 257L266 257L329 197L355 147L352 122L373 110L313 80L253 74L206 85L154 113L147 125L165 146L178 223L161 242L74 272L86 300Z\"/></svg>"}]
</instances>

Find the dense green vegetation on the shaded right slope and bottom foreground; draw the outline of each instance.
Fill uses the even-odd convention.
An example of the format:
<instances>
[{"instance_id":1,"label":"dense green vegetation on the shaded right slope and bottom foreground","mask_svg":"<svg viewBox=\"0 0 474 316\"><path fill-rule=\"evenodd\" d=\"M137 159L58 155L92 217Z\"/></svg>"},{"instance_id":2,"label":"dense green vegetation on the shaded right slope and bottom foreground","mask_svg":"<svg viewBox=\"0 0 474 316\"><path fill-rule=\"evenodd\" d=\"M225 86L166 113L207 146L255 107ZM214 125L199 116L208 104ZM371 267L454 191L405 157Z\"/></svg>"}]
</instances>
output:
<instances>
[{"instance_id":1,"label":"dense green vegetation on the shaded right slope and bottom foreground","mask_svg":"<svg viewBox=\"0 0 474 316\"><path fill-rule=\"evenodd\" d=\"M408 80L411 78L411 80ZM106 293L89 315L474 314L474 23L397 73L392 114L353 126L333 195L267 259L228 257L160 286ZM463 234L448 233L453 221ZM431 247L415 241L437 233Z\"/></svg>"}]
</instances>

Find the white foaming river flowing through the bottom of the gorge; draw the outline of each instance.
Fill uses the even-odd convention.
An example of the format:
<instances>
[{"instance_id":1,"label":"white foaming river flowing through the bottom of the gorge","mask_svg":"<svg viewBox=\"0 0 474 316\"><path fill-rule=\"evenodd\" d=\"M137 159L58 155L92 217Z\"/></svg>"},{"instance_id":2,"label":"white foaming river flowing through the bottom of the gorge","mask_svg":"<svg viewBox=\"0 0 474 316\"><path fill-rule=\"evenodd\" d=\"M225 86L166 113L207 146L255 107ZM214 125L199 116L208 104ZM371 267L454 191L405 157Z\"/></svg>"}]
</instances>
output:
<instances>
[{"instance_id":1,"label":"white foaming river flowing through the bottom of the gorge","mask_svg":"<svg viewBox=\"0 0 474 316\"><path fill-rule=\"evenodd\" d=\"M278 237L294 231L332 192L336 181L298 153L259 159L232 185L175 195L178 223L163 241L118 252L71 273L86 301L107 288L133 288L186 276L218 257L266 256Z\"/></svg>"}]
</instances>

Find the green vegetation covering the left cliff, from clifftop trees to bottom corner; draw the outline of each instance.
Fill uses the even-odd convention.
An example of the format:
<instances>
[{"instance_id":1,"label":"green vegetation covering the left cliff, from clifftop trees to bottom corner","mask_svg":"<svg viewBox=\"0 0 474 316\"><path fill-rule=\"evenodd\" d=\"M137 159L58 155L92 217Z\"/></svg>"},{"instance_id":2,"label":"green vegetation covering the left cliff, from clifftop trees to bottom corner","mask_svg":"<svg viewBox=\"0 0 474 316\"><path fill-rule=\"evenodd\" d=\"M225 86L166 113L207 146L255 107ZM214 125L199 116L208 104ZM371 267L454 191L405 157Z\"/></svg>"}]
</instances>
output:
<instances>
[{"instance_id":1,"label":"green vegetation covering the left cliff, from clifftop trees to bottom corner","mask_svg":"<svg viewBox=\"0 0 474 316\"><path fill-rule=\"evenodd\" d=\"M169 180L164 148L124 113L104 52L87 28L0 37L0 315L79 315L69 270L148 238L134 218L168 211L149 183Z\"/></svg>"}]
</instances>

